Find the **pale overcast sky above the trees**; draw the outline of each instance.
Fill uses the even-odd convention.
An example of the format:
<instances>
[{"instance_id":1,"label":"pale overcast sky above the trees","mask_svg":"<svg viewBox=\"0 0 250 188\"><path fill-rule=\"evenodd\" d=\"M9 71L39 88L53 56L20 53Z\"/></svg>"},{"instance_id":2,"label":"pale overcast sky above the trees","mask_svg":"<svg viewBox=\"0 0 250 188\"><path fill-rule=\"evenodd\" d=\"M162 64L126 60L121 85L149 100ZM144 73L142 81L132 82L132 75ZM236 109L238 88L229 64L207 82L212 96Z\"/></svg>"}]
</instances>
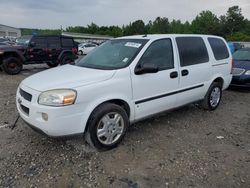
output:
<instances>
[{"instance_id":1,"label":"pale overcast sky above the trees","mask_svg":"<svg viewBox=\"0 0 250 188\"><path fill-rule=\"evenodd\" d=\"M41 29L92 22L122 26L139 19L148 23L158 16L185 22L203 10L217 16L226 14L234 5L250 19L250 0L0 0L0 24Z\"/></svg>"}]
</instances>

